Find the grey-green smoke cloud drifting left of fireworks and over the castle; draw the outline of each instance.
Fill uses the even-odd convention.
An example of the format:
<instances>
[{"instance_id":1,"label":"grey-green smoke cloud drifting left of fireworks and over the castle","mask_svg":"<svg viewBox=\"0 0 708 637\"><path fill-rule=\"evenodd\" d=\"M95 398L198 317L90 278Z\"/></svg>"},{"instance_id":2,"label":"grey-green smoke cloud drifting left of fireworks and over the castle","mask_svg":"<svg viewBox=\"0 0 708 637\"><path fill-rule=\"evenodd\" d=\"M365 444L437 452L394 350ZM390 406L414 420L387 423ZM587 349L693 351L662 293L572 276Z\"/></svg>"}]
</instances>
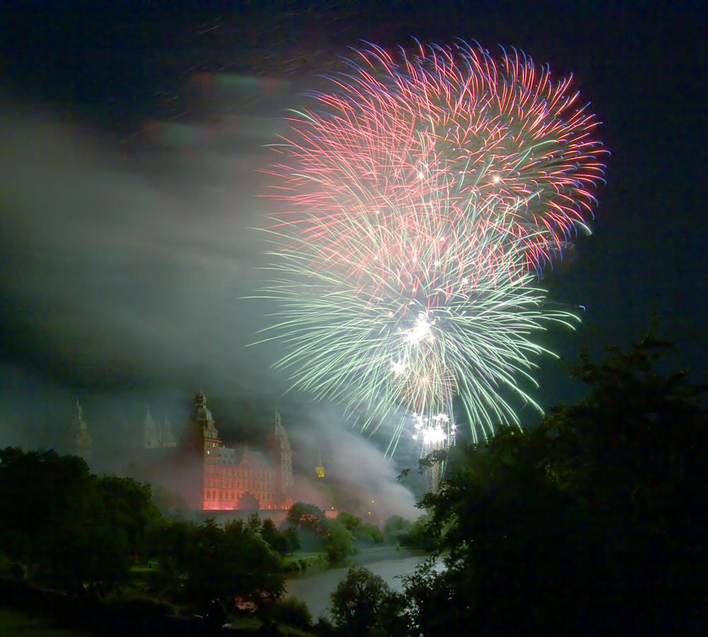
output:
<instances>
[{"instance_id":1,"label":"grey-green smoke cloud drifting left of fireworks and over the castle","mask_svg":"<svg viewBox=\"0 0 708 637\"><path fill-rule=\"evenodd\" d=\"M202 388L227 439L262 439L277 405L300 473L314 476L321 450L350 500L413 517L380 441L334 407L283 396L278 347L246 347L273 310L246 298L267 265L258 169L282 103L266 106L257 134L237 115L138 145L28 103L0 108L0 444L52 446L78 398L115 468L147 406L178 436Z\"/></svg>"}]
</instances>

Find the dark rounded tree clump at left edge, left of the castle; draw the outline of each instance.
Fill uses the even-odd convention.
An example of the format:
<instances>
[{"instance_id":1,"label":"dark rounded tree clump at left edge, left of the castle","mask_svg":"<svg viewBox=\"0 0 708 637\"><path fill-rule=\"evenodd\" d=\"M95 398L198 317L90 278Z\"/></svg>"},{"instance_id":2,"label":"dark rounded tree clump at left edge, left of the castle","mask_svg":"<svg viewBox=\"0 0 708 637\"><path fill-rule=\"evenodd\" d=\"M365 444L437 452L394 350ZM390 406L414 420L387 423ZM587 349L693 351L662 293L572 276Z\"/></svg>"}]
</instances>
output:
<instances>
[{"instance_id":1,"label":"dark rounded tree clump at left edge, left of the castle","mask_svg":"<svg viewBox=\"0 0 708 637\"><path fill-rule=\"evenodd\" d=\"M83 459L53 451L0 451L0 548L35 580L110 590L127 579L159 516L150 488L135 480L96 478Z\"/></svg>"}]
</instances>

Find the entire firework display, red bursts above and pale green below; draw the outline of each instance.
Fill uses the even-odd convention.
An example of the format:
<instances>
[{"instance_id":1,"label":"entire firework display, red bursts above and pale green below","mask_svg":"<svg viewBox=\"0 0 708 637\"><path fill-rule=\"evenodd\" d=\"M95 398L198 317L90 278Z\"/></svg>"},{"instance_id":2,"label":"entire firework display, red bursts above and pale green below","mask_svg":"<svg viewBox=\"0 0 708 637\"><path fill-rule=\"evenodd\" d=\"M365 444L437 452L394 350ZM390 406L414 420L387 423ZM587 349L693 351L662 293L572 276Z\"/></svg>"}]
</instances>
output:
<instances>
[{"instance_id":1,"label":"entire firework display, red bursts above and pale green below","mask_svg":"<svg viewBox=\"0 0 708 637\"><path fill-rule=\"evenodd\" d=\"M279 364L365 426L404 407L452 427L457 395L485 435L518 422L506 390L535 404L517 385L544 351L532 334L573 322L534 278L589 232L595 120L570 79L515 51L358 57L293 115L272 171Z\"/></svg>"}]
</instances>

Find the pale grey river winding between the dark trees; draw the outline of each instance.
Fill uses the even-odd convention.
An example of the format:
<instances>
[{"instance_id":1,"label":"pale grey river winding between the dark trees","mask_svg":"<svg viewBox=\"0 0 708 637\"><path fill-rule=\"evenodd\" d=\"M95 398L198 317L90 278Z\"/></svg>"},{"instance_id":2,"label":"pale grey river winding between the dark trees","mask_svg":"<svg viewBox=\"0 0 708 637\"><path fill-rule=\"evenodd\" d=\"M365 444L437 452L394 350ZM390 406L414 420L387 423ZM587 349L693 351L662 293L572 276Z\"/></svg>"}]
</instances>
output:
<instances>
[{"instance_id":1,"label":"pale grey river winding between the dark trees","mask_svg":"<svg viewBox=\"0 0 708 637\"><path fill-rule=\"evenodd\" d=\"M380 575L393 590L401 590L401 575L412 575L428 556L422 551L394 548L372 548L353 556L352 562L365 566L375 575ZM292 597L305 602L312 618L316 619L329 607L329 595L344 579L347 566L306 570L290 580L285 580L285 590Z\"/></svg>"}]
</instances>

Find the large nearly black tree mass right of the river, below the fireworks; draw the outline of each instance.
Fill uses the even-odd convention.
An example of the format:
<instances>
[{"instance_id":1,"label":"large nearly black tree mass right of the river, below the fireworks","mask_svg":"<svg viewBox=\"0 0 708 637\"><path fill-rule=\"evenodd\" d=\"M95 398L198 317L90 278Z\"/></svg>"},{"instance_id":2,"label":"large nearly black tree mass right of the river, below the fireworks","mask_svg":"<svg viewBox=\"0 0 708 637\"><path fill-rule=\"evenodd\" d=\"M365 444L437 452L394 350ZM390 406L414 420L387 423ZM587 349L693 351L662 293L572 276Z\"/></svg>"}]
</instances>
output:
<instances>
[{"instance_id":1,"label":"large nearly black tree mass right of the river, below the fireworks","mask_svg":"<svg viewBox=\"0 0 708 637\"><path fill-rule=\"evenodd\" d=\"M600 364L587 400L462 450L432 512L446 569L406 580L401 633L700 633L706 387L649 336Z\"/></svg>"}]
</instances>

